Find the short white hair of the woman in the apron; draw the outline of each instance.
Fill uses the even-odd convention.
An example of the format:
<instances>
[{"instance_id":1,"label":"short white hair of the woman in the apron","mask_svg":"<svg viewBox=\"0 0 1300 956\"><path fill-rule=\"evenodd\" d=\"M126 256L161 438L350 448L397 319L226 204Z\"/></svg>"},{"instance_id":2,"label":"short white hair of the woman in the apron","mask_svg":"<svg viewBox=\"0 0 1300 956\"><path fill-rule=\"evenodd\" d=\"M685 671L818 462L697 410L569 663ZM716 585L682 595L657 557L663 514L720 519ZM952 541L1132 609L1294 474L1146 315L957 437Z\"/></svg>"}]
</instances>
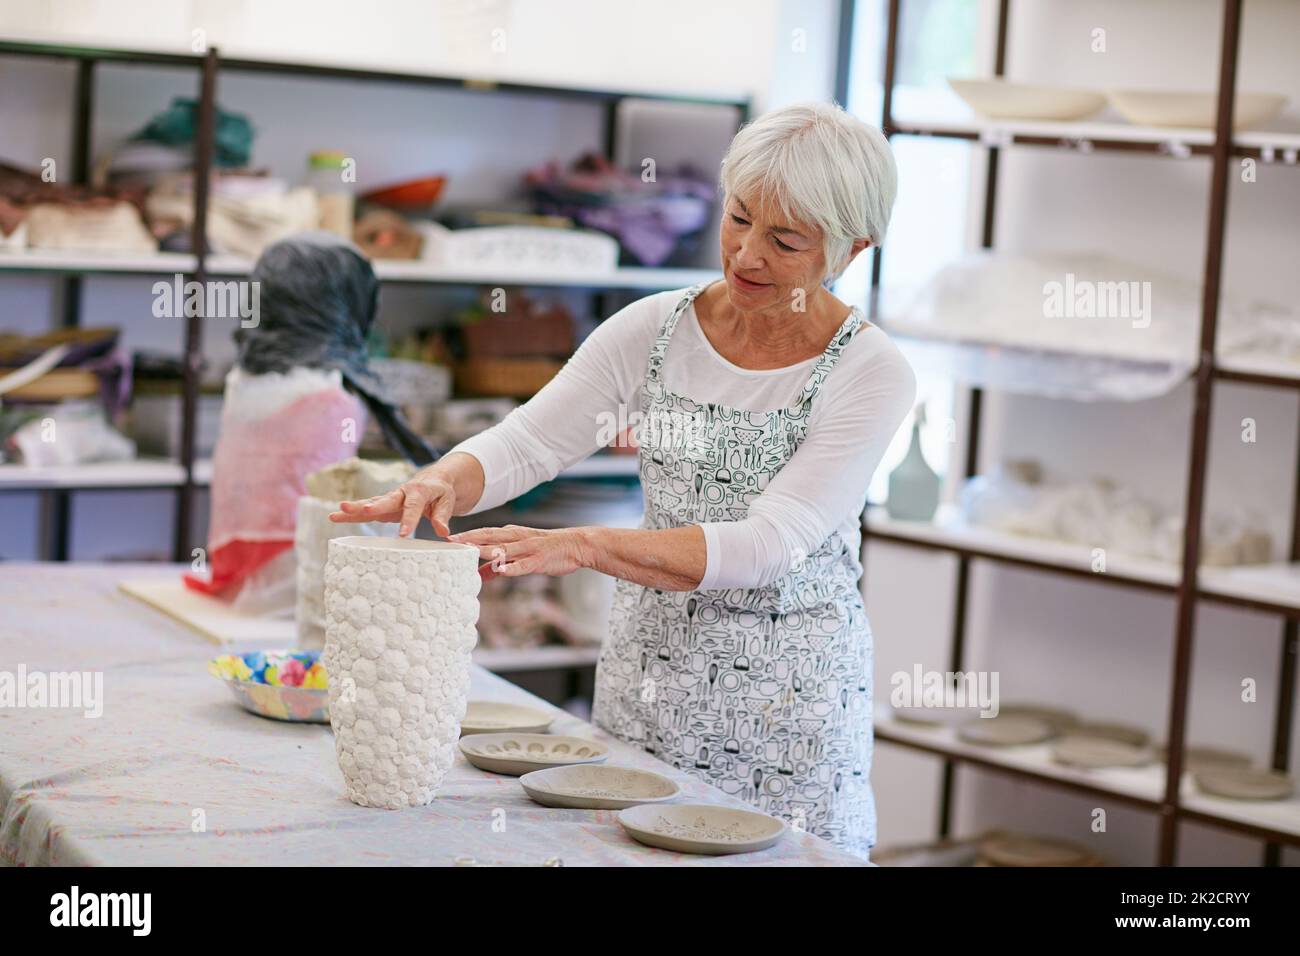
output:
<instances>
[{"instance_id":1,"label":"short white hair of the woman in the apron","mask_svg":"<svg viewBox=\"0 0 1300 956\"><path fill-rule=\"evenodd\" d=\"M854 239L884 239L898 170L875 126L832 103L794 103L736 134L719 182L728 196L771 199L788 219L818 226L828 281L848 267Z\"/></svg>"}]
</instances>

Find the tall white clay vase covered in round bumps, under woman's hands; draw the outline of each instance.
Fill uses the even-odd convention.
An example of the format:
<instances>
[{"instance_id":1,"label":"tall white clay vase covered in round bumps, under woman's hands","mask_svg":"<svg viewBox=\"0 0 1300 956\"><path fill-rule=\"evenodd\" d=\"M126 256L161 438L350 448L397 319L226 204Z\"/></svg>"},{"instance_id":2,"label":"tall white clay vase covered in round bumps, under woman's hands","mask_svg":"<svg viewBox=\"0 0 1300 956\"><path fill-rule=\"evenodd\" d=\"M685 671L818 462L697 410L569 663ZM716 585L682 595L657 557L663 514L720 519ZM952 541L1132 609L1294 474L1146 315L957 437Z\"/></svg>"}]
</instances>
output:
<instances>
[{"instance_id":1,"label":"tall white clay vase covered in round bumps, under woman's hands","mask_svg":"<svg viewBox=\"0 0 1300 956\"><path fill-rule=\"evenodd\" d=\"M338 537L325 563L325 671L347 796L398 809L433 800L469 696L478 549Z\"/></svg>"}]
</instances>

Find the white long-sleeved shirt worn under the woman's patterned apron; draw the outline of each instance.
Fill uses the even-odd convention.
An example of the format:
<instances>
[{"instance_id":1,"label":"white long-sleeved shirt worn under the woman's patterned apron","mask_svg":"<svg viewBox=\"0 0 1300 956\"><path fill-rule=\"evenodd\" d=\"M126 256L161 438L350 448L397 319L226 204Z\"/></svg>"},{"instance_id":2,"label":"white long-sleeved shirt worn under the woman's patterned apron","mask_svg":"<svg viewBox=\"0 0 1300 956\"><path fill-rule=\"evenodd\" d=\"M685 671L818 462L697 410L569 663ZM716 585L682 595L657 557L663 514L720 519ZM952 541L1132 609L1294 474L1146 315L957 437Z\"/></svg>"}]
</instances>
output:
<instances>
[{"instance_id":1,"label":"white long-sleeved shirt worn under the woman's patterned apron","mask_svg":"<svg viewBox=\"0 0 1300 956\"><path fill-rule=\"evenodd\" d=\"M588 336L564 368L500 424L452 451L482 464L486 484L471 514L550 481L636 421L650 349L685 289L638 299ZM816 358L750 369L723 358L699 329L694 303L672 333L662 367L670 392L746 411L794 402ZM833 531L857 553L867 485L910 411L916 378L875 325L863 325L812 399L807 437L740 522L702 523L707 549L701 591L771 584ZM621 415L620 415L621 411Z\"/></svg>"}]
</instances>

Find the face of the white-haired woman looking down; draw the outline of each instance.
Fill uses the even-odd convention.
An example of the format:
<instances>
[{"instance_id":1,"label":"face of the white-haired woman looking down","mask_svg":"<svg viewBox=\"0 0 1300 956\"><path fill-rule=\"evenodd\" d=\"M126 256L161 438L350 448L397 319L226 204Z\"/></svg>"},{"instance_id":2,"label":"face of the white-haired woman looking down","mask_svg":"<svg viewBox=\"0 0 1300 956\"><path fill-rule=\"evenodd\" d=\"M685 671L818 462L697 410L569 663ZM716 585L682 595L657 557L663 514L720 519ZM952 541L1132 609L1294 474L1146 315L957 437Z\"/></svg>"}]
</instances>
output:
<instances>
[{"instance_id":1,"label":"face of the white-haired woman looking down","mask_svg":"<svg viewBox=\"0 0 1300 956\"><path fill-rule=\"evenodd\" d=\"M789 221L775 204L728 195L720 230L731 304L742 312L802 311L826 274L822 230Z\"/></svg>"}]
</instances>

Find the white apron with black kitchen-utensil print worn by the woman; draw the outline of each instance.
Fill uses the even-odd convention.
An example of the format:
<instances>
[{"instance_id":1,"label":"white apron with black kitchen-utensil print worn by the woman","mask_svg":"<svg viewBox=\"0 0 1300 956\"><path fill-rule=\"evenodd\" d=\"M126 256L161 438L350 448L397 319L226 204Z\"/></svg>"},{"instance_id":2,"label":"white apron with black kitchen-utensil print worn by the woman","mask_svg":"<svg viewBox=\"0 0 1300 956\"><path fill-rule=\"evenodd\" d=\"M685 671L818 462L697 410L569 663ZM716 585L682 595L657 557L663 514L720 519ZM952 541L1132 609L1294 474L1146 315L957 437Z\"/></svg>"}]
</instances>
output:
<instances>
[{"instance_id":1,"label":"white apron with black kitchen-utensil print worn by the woman","mask_svg":"<svg viewBox=\"0 0 1300 956\"><path fill-rule=\"evenodd\" d=\"M668 339L650 351L640 423L641 527L738 522L807 434L812 401L863 324L854 310L794 405L741 411L668 392ZM774 584L671 592L620 580L593 717L610 734L793 826L866 857L871 793L871 628L857 553L835 532Z\"/></svg>"}]
</instances>

